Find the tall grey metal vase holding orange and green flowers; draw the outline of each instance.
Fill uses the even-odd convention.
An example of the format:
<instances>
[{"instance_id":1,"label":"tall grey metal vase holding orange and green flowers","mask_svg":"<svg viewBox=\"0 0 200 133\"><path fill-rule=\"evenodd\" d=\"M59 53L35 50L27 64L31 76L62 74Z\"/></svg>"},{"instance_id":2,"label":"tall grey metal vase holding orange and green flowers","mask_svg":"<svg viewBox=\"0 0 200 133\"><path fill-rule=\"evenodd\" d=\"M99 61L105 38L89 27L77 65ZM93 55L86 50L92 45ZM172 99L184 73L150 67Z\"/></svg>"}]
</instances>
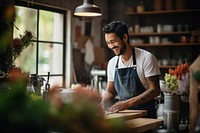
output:
<instances>
[{"instance_id":1,"label":"tall grey metal vase holding orange and green flowers","mask_svg":"<svg viewBox=\"0 0 200 133\"><path fill-rule=\"evenodd\" d=\"M164 94L164 126L169 131L179 130L180 102L180 95Z\"/></svg>"}]
</instances>

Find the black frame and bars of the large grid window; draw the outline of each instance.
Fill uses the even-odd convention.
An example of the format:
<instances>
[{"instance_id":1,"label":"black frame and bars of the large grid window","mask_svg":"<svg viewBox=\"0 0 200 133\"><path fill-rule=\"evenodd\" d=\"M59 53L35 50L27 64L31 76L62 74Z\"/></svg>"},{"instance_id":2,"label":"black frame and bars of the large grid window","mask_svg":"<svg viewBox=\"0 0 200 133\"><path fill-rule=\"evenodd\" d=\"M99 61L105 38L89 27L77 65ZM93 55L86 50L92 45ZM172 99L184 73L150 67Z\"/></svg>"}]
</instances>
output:
<instances>
[{"instance_id":1,"label":"black frame and bars of the large grid window","mask_svg":"<svg viewBox=\"0 0 200 133\"><path fill-rule=\"evenodd\" d=\"M62 74L50 74L50 77L58 77L58 76L62 76L62 86L60 87L66 87L66 75L70 75L67 74L68 72L66 72L66 61L67 61L67 57L66 57L66 51L67 51L67 46L66 46L66 42L67 42L67 18L69 15L68 10L62 10L62 9L57 9L57 8L53 8L50 6L44 6L42 4L39 3L29 3L29 2L25 2L25 1L16 1L15 2L16 6L22 6L22 7L26 7L26 8L32 8L32 9L36 9L37 10L37 36L36 36L36 40L34 41L34 43L36 43L36 74L38 75L38 69L39 69L39 43L52 43L54 45L57 44L63 44L63 68L62 68ZM39 40L39 10L45 10L45 11L51 11L51 12L55 12L55 13L61 13L63 14L63 43L62 42L54 42L54 41L41 41ZM45 75L38 75L41 77L47 77L48 73ZM69 77L69 76L68 76ZM68 85L69 86L69 85Z\"/></svg>"}]
</instances>

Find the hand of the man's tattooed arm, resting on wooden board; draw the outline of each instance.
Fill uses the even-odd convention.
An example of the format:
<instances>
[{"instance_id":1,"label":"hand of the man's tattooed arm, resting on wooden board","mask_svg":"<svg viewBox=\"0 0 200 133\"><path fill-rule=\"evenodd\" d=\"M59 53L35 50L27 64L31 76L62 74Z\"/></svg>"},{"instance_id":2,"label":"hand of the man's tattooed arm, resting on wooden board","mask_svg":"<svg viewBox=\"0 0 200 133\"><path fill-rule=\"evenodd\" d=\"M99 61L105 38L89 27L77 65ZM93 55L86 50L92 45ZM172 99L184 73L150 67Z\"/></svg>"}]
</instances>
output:
<instances>
[{"instance_id":1,"label":"hand of the man's tattooed arm, resting on wooden board","mask_svg":"<svg viewBox=\"0 0 200 133\"><path fill-rule=\"evenodd\" d=\"M119 101L116 102L113 106L111 106L110 111L113 113L117 113L127 108L129 108L129 103L127 101Z\"/></svg>"}]
</instances>

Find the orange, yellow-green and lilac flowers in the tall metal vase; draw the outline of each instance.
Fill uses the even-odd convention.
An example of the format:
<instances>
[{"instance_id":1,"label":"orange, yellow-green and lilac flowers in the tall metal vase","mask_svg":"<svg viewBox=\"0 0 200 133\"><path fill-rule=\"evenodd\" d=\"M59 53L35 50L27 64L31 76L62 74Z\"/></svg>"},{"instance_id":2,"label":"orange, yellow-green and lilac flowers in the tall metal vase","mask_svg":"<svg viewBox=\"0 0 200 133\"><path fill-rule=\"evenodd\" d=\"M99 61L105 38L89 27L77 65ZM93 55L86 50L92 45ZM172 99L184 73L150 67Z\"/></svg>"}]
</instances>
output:
<instances>
[{"instance_id":1,"label":"orange, yellow-green and lilac flowers in the tall metal vase","mask_svg":"<svg viewBox=\"0 0 200 133\"><path fill-rule=\"evenodd\" d=\"M164 93L186 95L189 94L189 66L187 63L178 65L175 69L170 68L164 76L161 85Z\"/></svg>"}]
</instances>

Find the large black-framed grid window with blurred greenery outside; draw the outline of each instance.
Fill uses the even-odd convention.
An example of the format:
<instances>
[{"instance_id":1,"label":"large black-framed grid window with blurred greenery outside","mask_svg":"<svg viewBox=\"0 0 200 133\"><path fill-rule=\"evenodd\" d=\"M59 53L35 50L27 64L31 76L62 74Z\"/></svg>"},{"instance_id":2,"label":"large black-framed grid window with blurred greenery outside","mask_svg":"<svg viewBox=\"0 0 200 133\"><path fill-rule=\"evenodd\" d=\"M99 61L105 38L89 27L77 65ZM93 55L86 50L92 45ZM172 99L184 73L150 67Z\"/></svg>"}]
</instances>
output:
<instances>
[{"instance_id":1,"label":"large black-framed grid window with blurred greenery outside","mask_svg":"<svg viewBox=\"0 0 200 133\"><path fill-rule=\"evenodd\" d=\"M19 4L20 5L20 4ZM35 37L34 45L26 48L15 65L24 72L37 74L47 79L50 72L51 86L64 86L65 80L65 20L66 11L40 6L16 5L14 38L26 30Z\"/></svg>"}]
</instances>

